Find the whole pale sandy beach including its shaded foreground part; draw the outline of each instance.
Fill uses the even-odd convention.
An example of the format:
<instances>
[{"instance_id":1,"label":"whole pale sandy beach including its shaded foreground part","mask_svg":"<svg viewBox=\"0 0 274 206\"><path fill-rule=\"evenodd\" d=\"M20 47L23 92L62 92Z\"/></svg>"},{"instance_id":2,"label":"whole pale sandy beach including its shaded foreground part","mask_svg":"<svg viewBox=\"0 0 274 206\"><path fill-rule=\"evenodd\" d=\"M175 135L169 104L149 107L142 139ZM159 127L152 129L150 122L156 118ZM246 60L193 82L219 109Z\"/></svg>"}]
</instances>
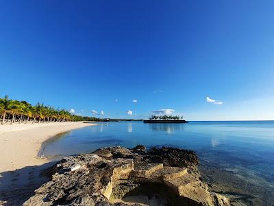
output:
<instances>
[{"instance_id":1,"label":"whole pale sandy beach including its shaded foreground part","mask_svg":"<svg viewBox=\"0 0 274 206\"><path fill-rule=\"evenodd\" d=\"M51 163L37 157L43 141L68 130L94 125L64 122L0 126L0 205L5 199L7 205L20 204L22 188L34 188L44 181L40 178L40 171ZM14 196L14 190L20 190L21 194ZM14 200L19 202L14 203Z\"/></svg>"}]
</instances>

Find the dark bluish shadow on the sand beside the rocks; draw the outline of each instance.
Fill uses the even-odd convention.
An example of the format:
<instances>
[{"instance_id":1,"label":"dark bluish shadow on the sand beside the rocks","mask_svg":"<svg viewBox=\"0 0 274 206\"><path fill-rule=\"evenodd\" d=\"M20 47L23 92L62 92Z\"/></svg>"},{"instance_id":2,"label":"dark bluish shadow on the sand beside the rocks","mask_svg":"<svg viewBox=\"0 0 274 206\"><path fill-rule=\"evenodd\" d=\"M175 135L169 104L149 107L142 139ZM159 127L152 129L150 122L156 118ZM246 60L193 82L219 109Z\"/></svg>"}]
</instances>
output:
<instances>
[{"instance_id":1,"label":"dark bluish shadow on the sand beside the rocks","mask_svg":"<svg viewBox=\"0 0 274 206\"><path fill-rule=\"evenodd\" d=\"M0 174L0 205L22 205L40 185L49 180L47 168L55 162L28 166Z\"/></svg>"}]
</instances>

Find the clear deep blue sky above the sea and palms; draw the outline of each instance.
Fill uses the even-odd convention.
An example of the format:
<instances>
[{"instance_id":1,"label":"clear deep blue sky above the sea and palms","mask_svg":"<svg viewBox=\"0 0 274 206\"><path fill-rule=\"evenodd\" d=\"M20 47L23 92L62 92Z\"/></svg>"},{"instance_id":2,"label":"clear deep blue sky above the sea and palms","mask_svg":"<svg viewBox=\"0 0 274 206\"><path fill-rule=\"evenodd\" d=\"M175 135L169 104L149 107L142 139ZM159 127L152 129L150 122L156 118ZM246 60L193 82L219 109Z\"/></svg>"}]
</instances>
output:
<instances>
[{"instance_id":1,"label":"clear deep blue sky above the sea and palms","mask_svg":"<svg viewBox=\"0 0 274 206\"><path fill-rule=\"evenodd\" d=\"M101 117L274 119L273 8L1 1L0 96Z\"/></svg>"}]
</instances>

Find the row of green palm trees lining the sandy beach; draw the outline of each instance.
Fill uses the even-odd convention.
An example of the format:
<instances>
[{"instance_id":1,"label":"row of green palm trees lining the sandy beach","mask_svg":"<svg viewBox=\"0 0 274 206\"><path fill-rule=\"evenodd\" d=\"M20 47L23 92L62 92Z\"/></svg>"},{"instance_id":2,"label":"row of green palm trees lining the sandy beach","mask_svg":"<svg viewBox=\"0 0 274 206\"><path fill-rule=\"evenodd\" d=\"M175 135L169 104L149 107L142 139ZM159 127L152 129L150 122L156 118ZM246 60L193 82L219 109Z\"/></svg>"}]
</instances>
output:
<instances>
[{"instance_id":1,"label":"row of green palm trees lining the sandy beach","mask_svg":"<svg viewBox=\"0 0 274 206\"><path fill-rule=\"evenodd\" d=\"M72 122L72 121L101 121L97 117L73 115L64 109L55 109L39 102L32 106L26 101L10 100L8 95L0 98L1 124L27 124L28 122Z\"/></svg>"}]
</instances>

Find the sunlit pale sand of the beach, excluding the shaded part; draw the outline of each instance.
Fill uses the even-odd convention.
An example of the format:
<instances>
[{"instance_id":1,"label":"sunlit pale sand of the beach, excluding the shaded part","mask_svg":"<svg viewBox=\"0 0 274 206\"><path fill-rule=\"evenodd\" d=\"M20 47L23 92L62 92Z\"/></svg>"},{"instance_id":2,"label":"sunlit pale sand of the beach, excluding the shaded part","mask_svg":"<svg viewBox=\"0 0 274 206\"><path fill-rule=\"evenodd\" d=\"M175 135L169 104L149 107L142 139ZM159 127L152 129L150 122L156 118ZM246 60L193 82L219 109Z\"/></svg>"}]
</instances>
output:
<instances>
[{"instance_id":1,"label":"sunlit pale sand of the beach, excluding the shaded part","mask_svg":"<svg viewBox=\"0 0 274 206\"><path fill-rule=\"evenodd\" d=\"M0 177L2 172L42 165L49 159L38 157L42 143L69 130L95 126L84 122L14 124L0 126Z\"/></svg>"}]
</instances>

